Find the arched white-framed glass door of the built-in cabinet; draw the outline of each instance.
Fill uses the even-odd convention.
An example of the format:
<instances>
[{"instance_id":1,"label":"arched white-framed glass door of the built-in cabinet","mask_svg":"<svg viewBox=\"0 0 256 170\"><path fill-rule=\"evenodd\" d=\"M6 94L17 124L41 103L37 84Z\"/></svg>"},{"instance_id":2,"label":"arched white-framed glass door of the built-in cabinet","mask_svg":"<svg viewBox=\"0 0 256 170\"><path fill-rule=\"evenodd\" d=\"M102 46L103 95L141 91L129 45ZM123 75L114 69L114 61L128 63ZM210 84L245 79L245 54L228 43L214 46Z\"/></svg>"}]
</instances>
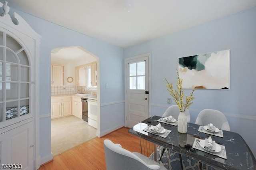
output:
<instances>
[{"instance_id":1,"label":"arched white-framed glass door of the built-in cabinet","mask_svg":"<svg viewBox=\"0 0 256 170\"><path fill-rule=\"evenodd\" d=\"M0 125L30 115L30 62L26 50L6 32L0 32Z\"/></svg>"}]
</instances>

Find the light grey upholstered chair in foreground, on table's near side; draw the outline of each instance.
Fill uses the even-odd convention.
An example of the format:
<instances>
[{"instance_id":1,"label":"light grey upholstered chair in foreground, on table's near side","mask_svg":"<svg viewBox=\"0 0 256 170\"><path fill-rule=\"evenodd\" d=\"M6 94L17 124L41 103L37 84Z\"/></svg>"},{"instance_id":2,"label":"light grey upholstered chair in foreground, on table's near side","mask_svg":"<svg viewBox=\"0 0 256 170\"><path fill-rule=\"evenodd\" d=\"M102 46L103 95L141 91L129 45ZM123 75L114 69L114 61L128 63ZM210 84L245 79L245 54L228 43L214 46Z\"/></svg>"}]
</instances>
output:
<instances>
[{"instance_id":1,"label":"light grey upholstered chair in foreground, on table's near side","mask_svg":"<svg viewBox=\"0 0 256 170\"><path fill-rule=\"evenodd\" d=\"M167 170L158 162L108 139L104 140L104 150L107 170Z\"/></svg>"}]
</instances>

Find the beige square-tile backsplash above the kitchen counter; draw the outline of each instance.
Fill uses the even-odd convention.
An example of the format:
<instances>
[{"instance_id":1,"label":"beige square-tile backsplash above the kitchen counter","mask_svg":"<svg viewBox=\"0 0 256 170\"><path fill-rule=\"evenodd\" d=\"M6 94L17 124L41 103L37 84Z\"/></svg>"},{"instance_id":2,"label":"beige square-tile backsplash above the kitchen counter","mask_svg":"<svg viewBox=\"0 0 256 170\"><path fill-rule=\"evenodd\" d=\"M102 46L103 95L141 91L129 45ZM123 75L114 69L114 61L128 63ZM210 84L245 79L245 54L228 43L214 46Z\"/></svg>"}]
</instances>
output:
<instances>
[{"instance_id":1,"label":"beige square-tile backsplash above the kitchen counter","mask_svg":"<svg viewBox=\"0 0 256 170\"><path fill-rule=\"evenodd\" d=\"M92 93L97 95L97 89L86 88L86 86L51 86L51 95L72 95L76 93Z\"/></svg>"}]
</instances>

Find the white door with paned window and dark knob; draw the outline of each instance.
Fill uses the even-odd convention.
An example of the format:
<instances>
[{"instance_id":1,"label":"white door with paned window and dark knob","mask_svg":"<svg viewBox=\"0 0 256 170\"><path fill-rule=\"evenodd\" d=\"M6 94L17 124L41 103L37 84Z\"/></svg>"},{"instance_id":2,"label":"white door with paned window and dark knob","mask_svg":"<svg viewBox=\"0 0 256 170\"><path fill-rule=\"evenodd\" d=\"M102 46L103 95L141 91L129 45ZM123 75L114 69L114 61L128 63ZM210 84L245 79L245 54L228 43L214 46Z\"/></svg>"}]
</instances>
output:
<instances>
[{"instance_id":1,"label":"white door with paned window and dark knob","mask_svg":"<svg viewBox=\"0 0 256 170\"><path fill-rule=\"evenodd\" d=\"M125 59L125 125L132 127L149 117L150 54Z\"/></svg>"}]
</instances>

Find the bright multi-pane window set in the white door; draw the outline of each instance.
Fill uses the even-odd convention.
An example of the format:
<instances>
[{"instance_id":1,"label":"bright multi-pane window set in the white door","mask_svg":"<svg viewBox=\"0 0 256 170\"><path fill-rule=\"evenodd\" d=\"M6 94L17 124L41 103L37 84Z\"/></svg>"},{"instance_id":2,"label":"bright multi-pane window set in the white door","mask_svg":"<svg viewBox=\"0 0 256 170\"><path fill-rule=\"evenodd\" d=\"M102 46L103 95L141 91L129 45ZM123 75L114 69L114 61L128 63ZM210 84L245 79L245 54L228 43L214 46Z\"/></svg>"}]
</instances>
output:
<instances>
[{"instance_id":1,"label":"bright multi-pane window set in the white door","mask_svg":"<svg viewBox=\"0 0 256 170\"><path fill-rule=\"evenodd\" d=\"M129 63L130 89L145 89L145 61Z\"/></svg>"}]
</instances>

